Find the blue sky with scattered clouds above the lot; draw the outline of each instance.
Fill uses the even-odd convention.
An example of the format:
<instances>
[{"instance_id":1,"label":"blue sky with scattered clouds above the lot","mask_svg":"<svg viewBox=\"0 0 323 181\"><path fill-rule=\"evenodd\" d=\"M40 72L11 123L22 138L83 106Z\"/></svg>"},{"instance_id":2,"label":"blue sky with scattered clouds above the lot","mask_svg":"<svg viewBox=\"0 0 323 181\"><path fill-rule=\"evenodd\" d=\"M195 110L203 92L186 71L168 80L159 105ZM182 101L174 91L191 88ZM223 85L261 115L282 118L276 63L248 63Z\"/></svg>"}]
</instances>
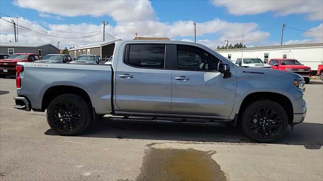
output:
<instances>
[{"instance_id":1,"label":"blue sky with scattered clouds above the lot","mask_svg":"<svg viewBox=\"0 0 323 181\"><path fill-rule=\"evenodd\" d=\"M26 1L25 1L26 2ZM55 2L55 1L50 1ZM213 46L214 48L216 45L225 44L223 39L229 39L229 42L235 43L241 41L239 37L242 37L242 27L248 29L251 27L248 23L252 23L252 27L250 30L246 30L246 42L245 44L249 46L254 45L277 45L280 43L281 37L281 26L283 23L286 23L287 27L301 29L301 30L309 30L314 31L316 33L304 33L302 31L296 31L292 29L285 29L284 30L284 41L285 43L311 43L311 42L322 42L322 18L323 14L322 10L319 10L317 6L322 5L322 1L311 1L311 3L307 3L305 1L300 1L297 3L290 4L282 4L282 9L277 9L276 6L280 6L279 2L257 2L251 1L251 4L248 3L241 3L239 2L221 2L221 1L151 1L146 3L136 3L133 2L134 5L131 5L128 9L126 6L127 4L131 4L130 1L123 2L112 2L114 4L121 4L118 5L119 10L121 13L116 9L112 10L100 10L97 14L93 15L90 13L84 13L81 11L92 11L90 4L95 4L94 2L88 3L87 1L81 1L81 4L84 6L81 7L73 7L73 1L70 2L58 2L57 7L58 9L54 9L49 6L56 6L55 3L52 5L41 4L39 2L30 1L28 4L21 2L21 1L0 1L0 12L11 17L22 17L22 21L32 22L33 24L43 26L45 28L52 28L55 27L55 30L61 30L60 25L81 25L85 23L87 25L95 25L97 26L97 30L101 30L101 21L106 20L111 25L111 28L107 28L107 32L115 36L116 38L122 39L131 39L134 36L134 32L138 33L138 35L145 35L145 36L168 36L171 39L175 40L185 40L185 41L192 41L194 40L194 27L192 22L196 21L197 25L197 40L199 43L206 44L209 46ZM64 5L66 3L66 5ZM70 4L69 4L70 3ZM93 9L101 8L102 7L111 7L111 2L98 2L99 4L102 3L101 7L92 7ZM110 3L110 4L109 4ZM267 4L266 4L267 3ZM79 4L79 3L78 3ZM97 4L97 3L96 3ZM140 10L140 7L144 4L145 8L143 11ZM240 5L239 5L240 4ZM247 4L247 5L246 5ZM264 10L257 10L255 12L246 6L257 6L260 5L265 6ZM276 5L275 5L276 4ZM296 4L296 5L295 5ZM71 6L72 5L72 6ZM46 7L48 6L48 7ZM116 6L116 5L113 5ZM139 7L138 11L131 12L131 7L136 8ZM266 8L268 7L268 8ZM60 9L61 8L61 9ZM70 14L62 13L62 12L69 12L72 9L80 9L80 12L74 12ZM230 12L230 9L234 9L237 13ZM294 11L294 10L303 10L303 9L311 9L313 8L316 11L316 14L302 11ZM103 8L104 9L104 8ZM259 9L259 8L254 8ZM323 9L320 7L320 9ZM294 12L293 12L294 11ZM289 13L286 13L289 12ZM120 15L118 15L118 13ZM119 20L119 17L124 16L124 14L134 14L138 15L138 17L134 16L132 20L131 16L126 17L126 20ZM6 17L1 14L1 17ZM139 14L142 14L139 15ZM285 15L286 14L286 15ZM215 22L212 22L217 20ZM145 23L150 22L151 27L147 27L144 29ZM175 26L174 23L181 22L179 26ZM204 31L209 22L214 29L217 29L218 25L222 25L223 27L219 30L207 30ZM199 23L201 25L199 25ZM228 25L226 25L226 23ZM133 28L129 28L129 25L133 25ZM239 24L239 26L235 26L235 24ZM24 25L24 24L21 24ZM158 27L158 26L161 26ZM191 26L189 26L191 25ZM6 29L5 24L1 24L0 26L0 33L2 34L1 40L6 41L9 35L13 32L3 31L2 29ZM27 26L27 24L25 24ZM168 27L166 27L168 26ZM2 28L4 27L4 28ZM157 28L155 28L157 27ZM175 27L178 27L176 30ZM227 29L226 29L227 27ZM79 28L79 31L71 30L71 29L62 29L68 32L82 32ZM165 30L164 30L165 28ZM191 30L188 30L190 29ZM12 29L12 28L11 28ZM131 30L128 30L131 29ZM86 31L86 27L83 30ZM110 31L110 32L109 32ZM165 31L175 31L176 33L165 33ZM179 32L178 32L179 31ZM183 32L180 32L183 31ZM22 33L24 31L22 30ZM201 33L203 32L203 33ZM317 33L318 32L318 33ZM321 33L320 33L321 32ZM26 32L27 34L28 32ZM50 33L50 32L49 32ZM123 33L123 34L122 34ZM227 36L226 33L231 34ZM6 35L6 36L5 36ZM24 35L21 34L21 39L24 39ZM34 36L37 36L34 34ZM11 36L12 37L12 36ZM49 39L53 39L52 37L48 37ZM45 41L48 41L49 39ZM35 38L37 39L37 38ZM231 40L230 40L231 39ZM9 39L8 39L9 40ZM78 40L75 44L85 44L90 43L91 41L99 41L99 37L93 40ZM28 41L28 40L25 40ZM65 41L62 40L63 44L65 45L74 45L72 41Z\"/></svg>"}]
</instances>

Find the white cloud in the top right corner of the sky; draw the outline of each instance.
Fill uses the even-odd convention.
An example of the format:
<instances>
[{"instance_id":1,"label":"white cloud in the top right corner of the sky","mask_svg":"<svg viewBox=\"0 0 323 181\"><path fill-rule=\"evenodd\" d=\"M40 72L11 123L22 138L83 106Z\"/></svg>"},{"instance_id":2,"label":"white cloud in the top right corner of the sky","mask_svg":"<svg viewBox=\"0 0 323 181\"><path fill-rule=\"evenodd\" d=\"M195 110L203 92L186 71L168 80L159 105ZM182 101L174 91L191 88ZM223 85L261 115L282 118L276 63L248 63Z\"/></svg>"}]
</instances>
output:
<instances>
[{"instance_id":1,"label":"white cloud in the top right corner of the sky","mask_svg":"<svg viewBox=\"0 0 323 181\"><path fill-rule=\"evenodd\" d=\"M212 4L214 6L226 7L232 15L256 15L265 12L274 12L276 16L306 14L310 20L323 20L323 1L321 0L213 0Z\"/></svg>"}]
</instances>

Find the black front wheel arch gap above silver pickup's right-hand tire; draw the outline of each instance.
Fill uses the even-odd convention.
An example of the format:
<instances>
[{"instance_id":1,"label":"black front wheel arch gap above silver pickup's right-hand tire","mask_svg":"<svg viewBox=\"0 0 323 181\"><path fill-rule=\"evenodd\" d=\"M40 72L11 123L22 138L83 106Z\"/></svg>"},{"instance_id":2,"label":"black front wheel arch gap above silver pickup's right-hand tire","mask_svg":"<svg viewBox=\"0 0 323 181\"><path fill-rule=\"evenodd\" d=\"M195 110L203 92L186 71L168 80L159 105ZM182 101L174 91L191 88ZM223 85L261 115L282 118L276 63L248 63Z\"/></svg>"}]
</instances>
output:
<instances>
[{"instance_id":1,"label":"black front wheel arch gap above silver pickup's right-hand tire","mask_svg":"<svg viewBox=\"0 0 323 181\"><path fill-rule=\"evenodd\" d=\"M290 101L290 99L288 97L286 97L282 94L279 94L279 93L272 93L272 92L255 92L255 93L251 93L248 96L246 96L240 105L239 114L238 114L239 119L241 120L243 111L250 104L252 104L256 101L260 101L260 100L269 100L269 101L273 101L273 102L280 104L287 113L288 123L292 124L293 117L294 117L292 102Z\"/></svg>"}]
</instances>

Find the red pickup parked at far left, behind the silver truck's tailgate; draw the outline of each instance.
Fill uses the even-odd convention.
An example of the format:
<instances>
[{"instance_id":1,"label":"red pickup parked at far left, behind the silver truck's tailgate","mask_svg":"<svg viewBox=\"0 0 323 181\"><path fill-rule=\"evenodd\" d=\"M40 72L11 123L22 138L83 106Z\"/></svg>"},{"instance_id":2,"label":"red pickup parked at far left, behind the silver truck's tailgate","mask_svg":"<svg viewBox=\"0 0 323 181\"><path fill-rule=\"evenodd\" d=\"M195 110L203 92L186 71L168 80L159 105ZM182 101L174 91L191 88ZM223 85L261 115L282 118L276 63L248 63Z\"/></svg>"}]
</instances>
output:
<instances>
[{"instance_id":1,"label":"red pickup parked at far left, behind the silver truck's tailgate","mask_svg":"<svg viewBox=\"0 0 323 181\"><path fill-rule=\"evenodd\" d=\"M31 62L35 60L40 60L39 55L35 53L11 54L7 59L0 60L0 77L16 75L17 62Z\"/></svg>"}]
</instances>

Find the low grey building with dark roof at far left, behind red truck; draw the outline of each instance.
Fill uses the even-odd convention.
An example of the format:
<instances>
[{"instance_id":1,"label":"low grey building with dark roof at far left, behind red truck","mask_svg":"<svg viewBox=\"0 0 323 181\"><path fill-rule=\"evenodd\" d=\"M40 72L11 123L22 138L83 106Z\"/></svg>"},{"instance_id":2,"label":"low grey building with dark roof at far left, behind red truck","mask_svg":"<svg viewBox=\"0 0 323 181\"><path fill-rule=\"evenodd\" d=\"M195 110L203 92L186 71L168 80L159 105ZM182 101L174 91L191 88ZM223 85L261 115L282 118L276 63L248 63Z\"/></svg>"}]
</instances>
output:
<instances>
[{"instance_id":1,"label":"low grey building with dark roof at far left, behind red truck","mask_svg":"<svg viewBox=\"0 0 323 181\"><path fill-rule=\"evenodd\" d=\"M50 43L0 42L0 53L37 53L40 56L45 56L51 53L60 53L60 49Z\"/></svg>"}]
</instances>

